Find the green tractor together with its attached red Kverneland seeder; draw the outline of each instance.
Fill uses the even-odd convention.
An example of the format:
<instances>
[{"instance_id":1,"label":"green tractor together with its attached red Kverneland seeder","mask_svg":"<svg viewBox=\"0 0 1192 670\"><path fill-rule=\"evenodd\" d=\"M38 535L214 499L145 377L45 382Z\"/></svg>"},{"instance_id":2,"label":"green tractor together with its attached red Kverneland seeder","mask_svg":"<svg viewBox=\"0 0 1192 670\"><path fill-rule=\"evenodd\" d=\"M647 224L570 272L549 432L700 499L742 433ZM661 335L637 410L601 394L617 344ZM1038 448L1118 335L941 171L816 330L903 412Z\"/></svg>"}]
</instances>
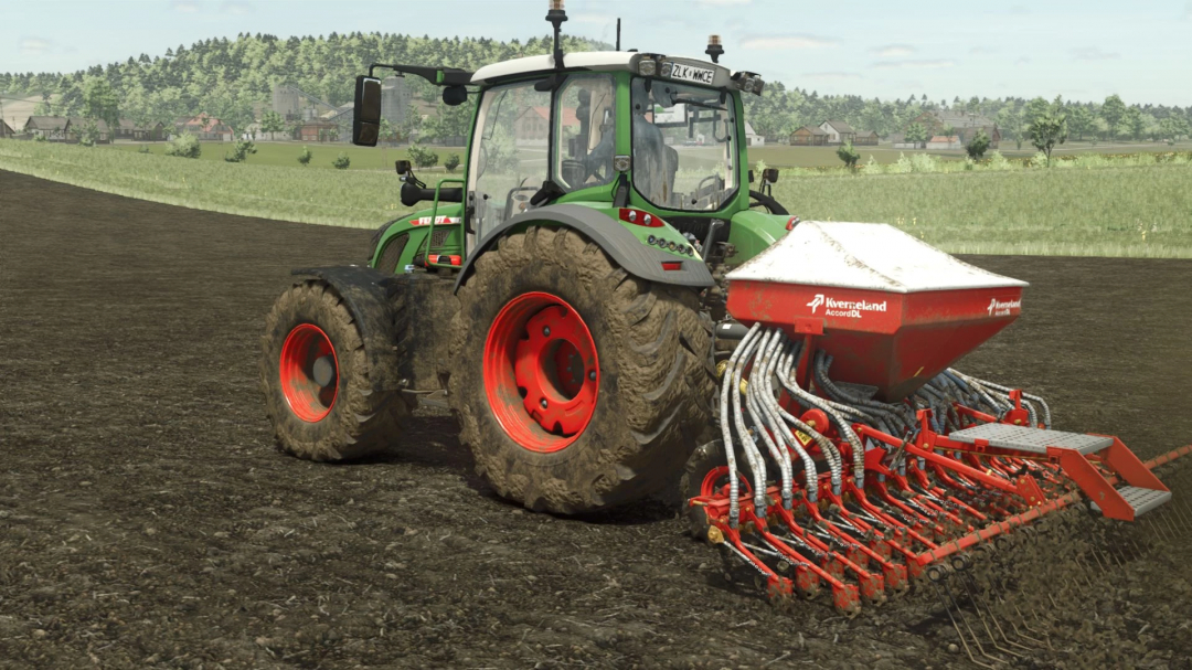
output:
<instances>
[{"instance_id":1,"label":"green tractor together with its attached red Kverneland seeder","mask_svg":"<svg viewBox=\"0 0 1192 670\"><path fill-rule=\"evenodd\" d=\"M1018 317L1024 283L775 200L743 120L764 82L720 64L719 38L708 60L564 54L561 1L547 20L550 55L358 77L356 144L378 141L387 69L474 101L467 161L434 186L398 161L402 201L429 207L362 266L294 272L261 340L281 449L375 453L437 403L497 494L557 514L685 463L697 536L771 595L827 590L848 614L1078 501L1124 521L1168 501L1120 440L951 367Z\"/></svg>"}]
</instances>

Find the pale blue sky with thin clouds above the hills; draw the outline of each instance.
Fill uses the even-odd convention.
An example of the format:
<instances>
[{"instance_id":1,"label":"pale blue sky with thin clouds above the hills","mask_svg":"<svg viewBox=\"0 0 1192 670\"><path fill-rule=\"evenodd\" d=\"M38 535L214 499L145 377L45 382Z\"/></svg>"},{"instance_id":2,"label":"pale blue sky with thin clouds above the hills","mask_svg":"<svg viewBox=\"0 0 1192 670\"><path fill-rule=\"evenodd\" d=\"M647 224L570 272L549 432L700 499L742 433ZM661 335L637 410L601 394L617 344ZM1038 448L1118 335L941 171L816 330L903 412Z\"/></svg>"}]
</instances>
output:
<instances>
[{"instance_id":1,"label":"pale blue sky with thin clouds above the hills","mask_svg":"<svg viewBox=\"0 0 1192 670\"><path fill-rule=\"evenodd\" d=\"M237 32L545 35L546 0L0 0L0 72L70 72ZM1192 0L567 0L570 33L701 55L820 93L1192 105Z\"/></svg>"}]
</instances>

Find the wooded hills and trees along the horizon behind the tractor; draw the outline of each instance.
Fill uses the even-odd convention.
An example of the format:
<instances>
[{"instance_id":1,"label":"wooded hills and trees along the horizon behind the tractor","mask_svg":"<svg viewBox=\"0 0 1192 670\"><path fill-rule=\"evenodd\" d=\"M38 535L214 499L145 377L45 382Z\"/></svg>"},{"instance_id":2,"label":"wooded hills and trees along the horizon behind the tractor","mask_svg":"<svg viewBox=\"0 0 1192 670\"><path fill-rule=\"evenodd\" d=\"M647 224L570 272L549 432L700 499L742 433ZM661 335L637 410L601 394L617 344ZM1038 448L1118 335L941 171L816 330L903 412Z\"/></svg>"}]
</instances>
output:
<instances>
[{"instance_id":1,"label":"wooded hills and trees along the horizon behind the tractor","mask_svg":"<svg viewBox=\"0 0 1192 670\"><path fill-rule=\"evenodd\" d=\"M117 100L119 116L138 124L207 113L234 129L244 128L261 108L268 108L271 91L281 83L342 105L352 100L355 75L373 62L449 66L474 70L480 66L548 52L548 37L526 42L484 38L432 38L392 33L330 33L318 37L237 35L235 39L211 38L168 49L164 55L141 54L123 63L94 66L69 74L0 74L0 92L7 95L42 95L38 113L87 116L94 105L91 94ZM566 37L566 51L610 49L608 44ZM416 94L434 101L435 91L418 77L408 80ZM98 93L97 93L98 92ZM52 97L52 98L51 98ZM92 95L93 97L93 95ZM925 93L906 99L880 100L861 95L820 95L797 86L770 81L762 97L746 97L746 118L770 138L787 137L805 124L840 119L858 130L875 130L881 137L902 132L924 110L962 110L993 119L1002 138L1023 141L1031 123L1048 108L1061 106L1072 139L1175 139L1190 135L1192 106L1126 104L1117 95L1104 101L1064 101L1058 98L979 98L951 101L929 100ZM440 106L447 111L446 106ZM443 116L434 129L443 136L464 135L470 114L464 110ZM435 125L435 124L433 124ZM465 128L454 128L464 125ZM426 130L426 129L424 129Z\"/></svg>"}]
</instances>

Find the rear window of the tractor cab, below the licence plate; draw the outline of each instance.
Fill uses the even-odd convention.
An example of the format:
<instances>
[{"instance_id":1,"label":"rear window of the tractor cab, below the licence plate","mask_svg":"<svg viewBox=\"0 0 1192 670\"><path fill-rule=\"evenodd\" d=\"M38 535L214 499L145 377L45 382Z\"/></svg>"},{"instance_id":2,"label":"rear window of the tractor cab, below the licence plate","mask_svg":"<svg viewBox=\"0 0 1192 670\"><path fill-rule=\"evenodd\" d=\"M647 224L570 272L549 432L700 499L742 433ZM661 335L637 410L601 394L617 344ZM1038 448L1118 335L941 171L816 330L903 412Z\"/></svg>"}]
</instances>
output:
<instances>
[{"instance_id":1,"label":"rear window of the tractor cab, below the licence plate","mask_svg":"<svg viewBox=\"0 0 1192 670\"><path fill-rule=\"evenodd\" d=\"M660 207L719 210L737 192L737 125L720 91L634 79L633 185Z\"/></svg>"}]
</instances>

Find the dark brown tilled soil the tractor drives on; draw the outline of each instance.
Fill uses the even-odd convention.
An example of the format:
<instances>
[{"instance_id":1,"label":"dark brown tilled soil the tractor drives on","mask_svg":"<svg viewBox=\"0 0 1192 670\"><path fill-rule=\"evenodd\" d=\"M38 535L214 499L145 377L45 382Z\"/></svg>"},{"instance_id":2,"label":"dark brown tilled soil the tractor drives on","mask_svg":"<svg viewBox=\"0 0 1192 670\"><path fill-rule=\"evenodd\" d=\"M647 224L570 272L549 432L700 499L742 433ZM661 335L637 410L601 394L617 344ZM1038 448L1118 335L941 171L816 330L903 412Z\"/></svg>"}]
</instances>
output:
<instances>
[{"instance_id":1,"label":"dark brown tilled soil the tractor drives on","mask_svg":"<svg viewBox=\"0 0 1192 670\"><path fill-rule=\"evenodd\" d=\"M782 612L724 582L671 502L507 504L448 417L423 411L366 464L279 454L263 315L291 267L360 262L370 234L0 173L0 668L969 665L930 588L853 621ZM1192 262L970 260L1032 287L962 370L1144 457L1192 442ZM1192 668L1192 519L1174 511L1069 515L1107 572L1070 542L1005 553L1007 601L1054 649L1002 656Z\"/></svg>"}]
</instances>

